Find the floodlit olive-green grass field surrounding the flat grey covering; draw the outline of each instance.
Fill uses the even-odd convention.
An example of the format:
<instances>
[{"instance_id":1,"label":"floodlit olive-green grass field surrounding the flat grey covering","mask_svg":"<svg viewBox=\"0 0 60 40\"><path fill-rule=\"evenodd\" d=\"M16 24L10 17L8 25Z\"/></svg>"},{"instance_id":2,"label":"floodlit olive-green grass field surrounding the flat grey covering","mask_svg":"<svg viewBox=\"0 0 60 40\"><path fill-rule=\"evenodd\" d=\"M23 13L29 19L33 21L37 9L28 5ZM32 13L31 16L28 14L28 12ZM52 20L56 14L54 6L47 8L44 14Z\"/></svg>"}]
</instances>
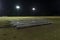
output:
<instances>
[{"instance_id":1,"label":"floodlit olive-green grass field surrounding the flat grey covering","mask_svg":"<svg viewBox=\"0 0 60 40\"><path fill-rule=\"evenodd\" d=\"M59 17L0 17L0 26L8 25L8 20L49 19L54 23L16 30L0 28L0 40L60 40Z\"/></svg>"}]
</instances>

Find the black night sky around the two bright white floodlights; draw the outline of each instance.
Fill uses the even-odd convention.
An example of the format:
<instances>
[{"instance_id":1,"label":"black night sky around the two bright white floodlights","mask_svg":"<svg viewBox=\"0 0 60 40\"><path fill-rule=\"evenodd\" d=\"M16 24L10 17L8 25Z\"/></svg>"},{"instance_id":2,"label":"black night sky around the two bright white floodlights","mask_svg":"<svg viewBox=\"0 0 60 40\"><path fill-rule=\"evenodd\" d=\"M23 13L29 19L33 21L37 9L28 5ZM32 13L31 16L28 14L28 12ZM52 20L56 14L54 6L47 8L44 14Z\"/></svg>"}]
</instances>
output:
<instances>
[{"instance_id":1,"label":"black night sky around the two bright white floodlights","mask_svg":"<svg viewBox=\"0 0 60 40\"><path fill-rule=\"evenodd\" d=\"M59 0L1 0L0 15L17 15L15 5L20 5L18 15L60 15ZM32 7L37 10L32 12Z\"/></svg>"}]
</instances>

